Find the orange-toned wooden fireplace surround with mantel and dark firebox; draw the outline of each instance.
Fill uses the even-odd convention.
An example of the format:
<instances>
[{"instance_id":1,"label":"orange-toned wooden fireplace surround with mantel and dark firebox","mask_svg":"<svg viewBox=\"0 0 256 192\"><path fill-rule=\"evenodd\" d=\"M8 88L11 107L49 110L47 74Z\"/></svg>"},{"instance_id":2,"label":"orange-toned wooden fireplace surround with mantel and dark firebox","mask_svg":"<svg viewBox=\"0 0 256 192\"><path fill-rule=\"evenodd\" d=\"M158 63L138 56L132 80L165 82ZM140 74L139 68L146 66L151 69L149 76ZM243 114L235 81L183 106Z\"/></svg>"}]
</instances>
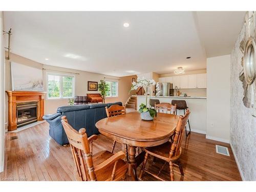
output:
<instances>
[{"instance_id":1,"label":"orange-toned wooden fireplace surround with mantel and dark firebox","mask_svg":"<svg viewBox=\"0 0 256 192\"><path fill-rule=\"evenodd\" d=\"M8 131L41 121L46 92L6 91L8 95Z\"/></svg>"}]
</instances>

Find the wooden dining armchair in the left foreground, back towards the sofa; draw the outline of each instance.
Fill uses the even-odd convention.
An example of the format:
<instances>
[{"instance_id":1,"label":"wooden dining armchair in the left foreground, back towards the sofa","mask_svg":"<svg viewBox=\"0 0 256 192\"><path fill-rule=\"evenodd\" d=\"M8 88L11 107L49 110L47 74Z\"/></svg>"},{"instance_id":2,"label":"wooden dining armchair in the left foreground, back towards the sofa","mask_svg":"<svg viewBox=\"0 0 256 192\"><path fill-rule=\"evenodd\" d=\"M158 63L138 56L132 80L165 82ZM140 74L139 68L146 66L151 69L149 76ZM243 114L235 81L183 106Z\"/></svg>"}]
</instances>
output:
<instances>
[{"instance_id":1,"label":"wooden dining armchair in the left foreground, back towards the sofa","mask_svg":"<svg viewBox=\"0 0 256 192\"><path fill-rule=\"evenodd\" d=\"M93 140L98 136L92 135L88 138L86 129L82 128L77 132L68 123L66 116L62 116L61 119L76 165L77 180L118 181L125 179L127 164L123 161L125 155L122 151L116 154L108 151L93 154Z\"/></svg>"}]
</instances>

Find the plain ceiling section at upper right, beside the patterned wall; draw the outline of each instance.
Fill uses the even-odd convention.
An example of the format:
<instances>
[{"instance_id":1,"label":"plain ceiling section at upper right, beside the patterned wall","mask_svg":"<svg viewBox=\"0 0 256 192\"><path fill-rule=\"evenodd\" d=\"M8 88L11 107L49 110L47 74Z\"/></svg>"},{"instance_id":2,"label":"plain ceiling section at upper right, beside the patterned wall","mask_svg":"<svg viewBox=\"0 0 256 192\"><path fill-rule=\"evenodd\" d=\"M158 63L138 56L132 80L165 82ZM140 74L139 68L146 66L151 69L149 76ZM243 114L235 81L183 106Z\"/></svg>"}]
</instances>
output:
<instances>
[{"instance_id":1,"label":"plain ceiling section at upper right, beside the patterned wall","mask_svg":"<svg viewBox=\"0 0 256 192\"><path fill-rule=\"evenodd\" d=\"M197 12L199 34L207 57L230 54L244 23L245 11Z\"/></svg>"}]
</instances>

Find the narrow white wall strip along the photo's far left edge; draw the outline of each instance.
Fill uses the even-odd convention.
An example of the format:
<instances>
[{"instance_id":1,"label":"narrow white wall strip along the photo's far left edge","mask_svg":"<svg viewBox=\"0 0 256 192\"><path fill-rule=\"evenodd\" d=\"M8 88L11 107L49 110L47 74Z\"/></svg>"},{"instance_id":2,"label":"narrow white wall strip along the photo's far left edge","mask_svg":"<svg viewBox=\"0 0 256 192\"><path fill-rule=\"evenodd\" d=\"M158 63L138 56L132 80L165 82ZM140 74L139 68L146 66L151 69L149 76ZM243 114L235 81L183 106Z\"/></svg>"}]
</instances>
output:
<instances>
[{"instance_id":1,"label":"narrow white wall strip along the photo's far left edge","mask_svg":"<svg viewBox=\"0 0 256 192\"><path fill-rule=\"evenodd\" d=\"M3 12L0 12L0 172L4 171L5 143L5 59L3 38Z\"/></svg>"}]
</instances>

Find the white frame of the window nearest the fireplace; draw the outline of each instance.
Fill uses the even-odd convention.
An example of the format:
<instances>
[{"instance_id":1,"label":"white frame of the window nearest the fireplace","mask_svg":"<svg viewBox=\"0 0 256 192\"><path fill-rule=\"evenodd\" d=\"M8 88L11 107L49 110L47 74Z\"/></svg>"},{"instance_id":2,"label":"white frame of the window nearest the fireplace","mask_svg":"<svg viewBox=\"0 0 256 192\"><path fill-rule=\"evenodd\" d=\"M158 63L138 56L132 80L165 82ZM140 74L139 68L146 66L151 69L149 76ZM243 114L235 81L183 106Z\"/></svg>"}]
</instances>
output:
<instances>
[{"instance_id":1,"label":"white frame of the window nearest the fireplace","mask_svg":"<svg viewBox=\"0 0 256 192\"><path fill-rule=\"evenodd\" d=\"M49 75L55 75L59 76L59 97L49 97L48 95L48 76ZM73 77L73 92L71 97L63 97L62 96L62 88L63 88L63 79L62 77ZM75 97L75 81L76 81L76 76L75 74L66 74L66 73L54 73L54 72L47 72L46 73L46 91L47 91L47 100L63 100L63 99L70 99Z\"/></svg>"}]
</instances>

